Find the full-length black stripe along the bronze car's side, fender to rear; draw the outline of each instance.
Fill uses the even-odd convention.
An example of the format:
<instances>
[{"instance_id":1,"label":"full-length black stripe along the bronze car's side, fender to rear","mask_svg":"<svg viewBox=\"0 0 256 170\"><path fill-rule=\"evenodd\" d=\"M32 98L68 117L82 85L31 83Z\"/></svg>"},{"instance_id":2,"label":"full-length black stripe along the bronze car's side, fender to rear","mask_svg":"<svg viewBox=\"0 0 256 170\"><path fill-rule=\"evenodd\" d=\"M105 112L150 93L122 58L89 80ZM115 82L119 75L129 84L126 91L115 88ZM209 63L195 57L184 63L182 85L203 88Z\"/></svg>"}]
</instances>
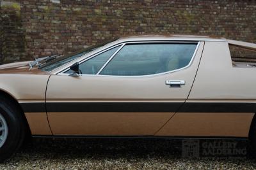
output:
<instances>
[{"instance_id":1,"label":"full-length black stripe along the bronze car's side, fender to rear","mask_svg":"<svg viewBox=\"0 0 256 170\"><path fill-rule=\"evenodd\" d=\"M175 112L182 103L46 103L48 112ZM20 103L25 113L45 112L45 103ZM179 112L256 113L256 103L185 103Z\"/></svg>"}]
</instances>

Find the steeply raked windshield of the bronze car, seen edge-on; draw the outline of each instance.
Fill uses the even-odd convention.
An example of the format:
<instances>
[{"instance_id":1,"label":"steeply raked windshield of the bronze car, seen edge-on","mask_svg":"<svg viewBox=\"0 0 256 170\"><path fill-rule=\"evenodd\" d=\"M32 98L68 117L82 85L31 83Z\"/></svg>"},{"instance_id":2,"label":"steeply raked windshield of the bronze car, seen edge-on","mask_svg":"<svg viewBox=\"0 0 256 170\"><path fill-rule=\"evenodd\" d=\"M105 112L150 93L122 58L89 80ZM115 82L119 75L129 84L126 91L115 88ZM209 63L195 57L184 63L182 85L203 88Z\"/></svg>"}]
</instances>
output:
<instances>
[{"instance_id":1,"label":"steeply raked windshield of the bronze car, seen edge-on","mask_svg":"<svg viewBox=\"0 0 256 170\"><path fill-rule=\"evenodd\" d=\"M111 39L111 41L105 41L104 43L100 43L100 45L93 45L89 46L88 48L85 48L83 50L79 50L74 53L70 53L68 55L64 55L63 57L58 57L54 60L51 60L49 62L46 62L45 64L42 64L39 68L42 69L42 71L52 71L60 66L63 66L64 64L67 64L68 62L77 59L78 57L83 56L86 53L92 52L93 50L96 50L97 48L100 48L101 46L104 46L112 41L115 41L118 38Z\"/></svg>"}]
</instances>

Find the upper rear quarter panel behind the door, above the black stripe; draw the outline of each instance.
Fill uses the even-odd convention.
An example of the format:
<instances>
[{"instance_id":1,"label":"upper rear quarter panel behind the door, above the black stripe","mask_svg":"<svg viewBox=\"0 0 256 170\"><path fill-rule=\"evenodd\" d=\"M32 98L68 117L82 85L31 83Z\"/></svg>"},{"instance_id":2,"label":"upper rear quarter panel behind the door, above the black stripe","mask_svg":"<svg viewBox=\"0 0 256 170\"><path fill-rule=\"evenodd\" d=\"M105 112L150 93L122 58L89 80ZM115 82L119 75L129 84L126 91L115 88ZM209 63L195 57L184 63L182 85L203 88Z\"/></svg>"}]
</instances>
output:
<instances>
[{"instance_id":1,"label":"upper rear quarter panel behind the door, above the black stripe","mask_svg":"<svg viewBox=\"0 0 256 170\"><path fill-rule=\"evenodd\" d=\"M233 67L227 42L205 42L188 99L256 102L256 68Z\"/></svg>"}]
</instances>

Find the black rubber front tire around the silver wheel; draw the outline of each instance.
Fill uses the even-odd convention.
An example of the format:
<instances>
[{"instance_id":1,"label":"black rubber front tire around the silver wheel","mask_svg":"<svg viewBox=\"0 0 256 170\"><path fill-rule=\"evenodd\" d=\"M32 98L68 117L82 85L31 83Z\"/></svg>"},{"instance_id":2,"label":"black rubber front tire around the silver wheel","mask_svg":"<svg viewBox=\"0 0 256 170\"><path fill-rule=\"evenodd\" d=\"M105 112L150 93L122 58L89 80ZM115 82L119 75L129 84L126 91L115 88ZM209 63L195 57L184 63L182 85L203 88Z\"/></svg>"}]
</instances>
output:
<instances>
[{"instance_id":1,"label":"black rubber front tire around the silver wheel","mask_svg":"<svg viewBox=\"0 0 256 170\"><path fill-rule=\"evenodd\" d=\"M0 148L0 162L3 162L3 160L8 159L22 145L26 135L26 124L24 122L24 116L22 116L23 113L17 103L1 95L0 114L8 127L7 138Z\"/></svg>"}]
</instances>

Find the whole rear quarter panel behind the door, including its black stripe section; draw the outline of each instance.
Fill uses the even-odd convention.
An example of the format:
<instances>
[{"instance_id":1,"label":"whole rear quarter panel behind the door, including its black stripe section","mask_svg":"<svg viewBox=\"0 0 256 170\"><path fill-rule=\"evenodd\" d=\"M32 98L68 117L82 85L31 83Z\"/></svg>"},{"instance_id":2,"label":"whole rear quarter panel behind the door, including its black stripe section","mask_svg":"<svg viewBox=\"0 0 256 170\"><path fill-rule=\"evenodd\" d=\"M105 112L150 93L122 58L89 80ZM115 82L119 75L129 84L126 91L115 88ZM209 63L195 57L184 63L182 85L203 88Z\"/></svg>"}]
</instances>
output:
<instances>
[{"instance_id":1,"label":"whole rear quarter panel behind the door, including its black stripe section","mask_svg":"<svg viewBox=\"0 0 256 170\"><path fill-rule=\"evenodd\" d=\"M227 42L206 41L186 103L163 136L247 138L256 111L256 68L233 67Z\"/></svg>"}]
</instances>

